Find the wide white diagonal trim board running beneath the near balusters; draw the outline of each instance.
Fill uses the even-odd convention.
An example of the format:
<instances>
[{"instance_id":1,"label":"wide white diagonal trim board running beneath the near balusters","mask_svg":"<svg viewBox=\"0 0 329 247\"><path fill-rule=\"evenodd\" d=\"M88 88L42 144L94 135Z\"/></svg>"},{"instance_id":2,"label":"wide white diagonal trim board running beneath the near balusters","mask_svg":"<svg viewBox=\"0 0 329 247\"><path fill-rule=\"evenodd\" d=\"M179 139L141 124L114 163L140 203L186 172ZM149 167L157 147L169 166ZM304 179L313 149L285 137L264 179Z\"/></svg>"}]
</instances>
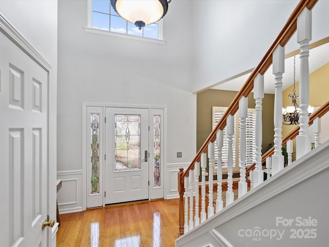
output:
<instances>
[{"instance_id":1,"label":"wide white diagonal trim board running beneath the near balusters","mask_svg":"<svg viewBox=\"0 0 329 247\"><path fill-rule=\"evenodd\" d=\"M300 157L297 161L287 166L271 178L264 181L256 188L250 190L241 198L225 207L219 213L212 216L205 224L200 224L184 236L176 240L176 245L180 246L194 238L213 230L215 227L224 224L233 218L244 214L251 208L277 196L283 191L296 186L302 181L314 177L314 175L329 168L329 140L319 147ZM310 166L312 164L312 166Z\"/></svg>"}]
</instances>

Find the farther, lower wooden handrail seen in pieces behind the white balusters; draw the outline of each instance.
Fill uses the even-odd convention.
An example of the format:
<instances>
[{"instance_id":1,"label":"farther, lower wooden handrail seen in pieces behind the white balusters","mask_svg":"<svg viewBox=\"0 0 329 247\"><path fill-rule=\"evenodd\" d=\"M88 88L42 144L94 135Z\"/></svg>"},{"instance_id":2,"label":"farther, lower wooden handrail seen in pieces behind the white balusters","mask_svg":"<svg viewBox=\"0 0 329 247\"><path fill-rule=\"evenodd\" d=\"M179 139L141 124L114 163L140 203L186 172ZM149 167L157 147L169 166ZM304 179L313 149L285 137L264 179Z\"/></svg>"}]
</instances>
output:
<instances>
[{"instance_id":1,"label":"farther, lower wooden handrail seen in pieces behind the white balusters","mask_svg":"<svg viewBox=\"0 0 329 247\"><path fill-rule=\"evenodd\" d=\"M322 117L324 114L326 114L329 111L329 100L327 102L325 102L323 105L321 105L321 107L316 110L312 115L309 116L309 121L308 121L308 125L312 125L314 119L316 119L317 117ZM290 139L294 139L296 138L296 136L299 133L299 126L297 126L294 130L290 131L289 134L287 134L283 139L282 139L282 147L284 147L287 143L288 140ZM266 158L271 156L274 153L274 147L270 148L266 153L264 153L262 155L262 163L265 162ZM246 169L246 175L249 174L249 172L251 170L253 170L255 168L255 163L253 163L252 165L248 166L248 168Z\"/></svg>"}]
</instances>

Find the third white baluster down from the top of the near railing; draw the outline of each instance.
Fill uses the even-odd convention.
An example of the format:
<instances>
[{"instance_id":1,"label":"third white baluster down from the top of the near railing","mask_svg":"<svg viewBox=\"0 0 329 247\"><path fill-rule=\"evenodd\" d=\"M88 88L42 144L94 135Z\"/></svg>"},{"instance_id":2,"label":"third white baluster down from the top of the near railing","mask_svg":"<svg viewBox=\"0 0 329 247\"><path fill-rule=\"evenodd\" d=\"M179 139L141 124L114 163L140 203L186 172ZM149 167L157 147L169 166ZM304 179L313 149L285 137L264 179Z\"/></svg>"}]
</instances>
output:
<instances>
[{"instance_id":1,"label":"third white baluster down from the top of the near railing","mask_svg":"<svg viewBox=\"0 0 329 247\"><path fill-rule=\"evenodd\" d=\"M253 80L253 98L255 99L255 169L253 171L253 187L263 183L264 173L262 168L262 100L264 98L264 76L258 74Z\"/></svg>"}]
</instances>

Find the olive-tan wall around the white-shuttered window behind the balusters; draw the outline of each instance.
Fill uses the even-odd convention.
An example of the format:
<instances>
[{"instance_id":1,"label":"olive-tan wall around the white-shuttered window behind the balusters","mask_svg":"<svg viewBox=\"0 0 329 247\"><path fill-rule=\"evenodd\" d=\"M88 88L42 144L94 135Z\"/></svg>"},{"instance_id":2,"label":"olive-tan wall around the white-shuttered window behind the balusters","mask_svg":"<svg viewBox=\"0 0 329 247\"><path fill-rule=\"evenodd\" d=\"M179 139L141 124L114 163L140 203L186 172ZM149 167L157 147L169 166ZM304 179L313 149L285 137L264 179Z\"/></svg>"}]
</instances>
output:
<instances>
[{"instance_id":1,"label":"olive-tan wall around the white-shuttered window behind the balusters","mask_svg":"<svg viewBox=\"0 0 329 247\"><path fill-rule=\"evenodd\" d=\"M196 96L196 149L199 150L211 132L212 107L228 107L237 92L208 89ZM263 145L262 152L267 150L274 139L274 95L265 94L263 99ZM255 108L253 94L248 97L248 108Z\"/></svg>"}]
</instances>

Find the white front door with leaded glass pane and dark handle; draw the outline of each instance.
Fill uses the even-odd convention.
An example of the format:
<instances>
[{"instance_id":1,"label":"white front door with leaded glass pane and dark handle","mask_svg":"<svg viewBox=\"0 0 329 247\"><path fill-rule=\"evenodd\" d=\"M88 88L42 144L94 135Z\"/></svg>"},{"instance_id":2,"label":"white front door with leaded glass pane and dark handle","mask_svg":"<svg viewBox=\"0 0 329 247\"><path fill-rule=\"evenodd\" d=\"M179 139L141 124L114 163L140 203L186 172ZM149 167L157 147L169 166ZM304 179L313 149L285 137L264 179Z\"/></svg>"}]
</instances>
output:
<instances>
[{"instance_id":1,"label":"white front door with leaded glass pane and dark handle","mask_svg":"<svg viewBox=\"0 0 329 247\"><path fill-rule=\"evenodd\" d=\"M149 109L105 109L105 204L149 199Z\"/></svg>"}]
</instances>

